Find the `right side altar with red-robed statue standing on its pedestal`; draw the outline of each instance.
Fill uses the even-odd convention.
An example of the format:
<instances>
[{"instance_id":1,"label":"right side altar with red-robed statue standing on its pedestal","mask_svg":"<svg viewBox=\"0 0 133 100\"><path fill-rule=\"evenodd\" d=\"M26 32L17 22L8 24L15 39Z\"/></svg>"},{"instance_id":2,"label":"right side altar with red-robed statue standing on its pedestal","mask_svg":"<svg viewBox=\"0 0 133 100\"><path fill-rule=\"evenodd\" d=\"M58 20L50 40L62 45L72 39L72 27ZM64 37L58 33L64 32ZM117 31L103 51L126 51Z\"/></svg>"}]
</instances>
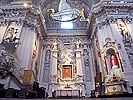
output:
<instances>
[{"instance_id":1,"label":"right side altar with red-robed statue standing on its pedestal","mask_svg":"<svg viewBox=\"0 0 133 100\"><path fill-rule=\"evenodd\" d=\"M116 55L112 55L110 58L111 70L105 78L105 94L128 94L130 93L130 86L128 81L124 79L122 69L118 65L118 59Z\"/></svg>"}]
</instances>

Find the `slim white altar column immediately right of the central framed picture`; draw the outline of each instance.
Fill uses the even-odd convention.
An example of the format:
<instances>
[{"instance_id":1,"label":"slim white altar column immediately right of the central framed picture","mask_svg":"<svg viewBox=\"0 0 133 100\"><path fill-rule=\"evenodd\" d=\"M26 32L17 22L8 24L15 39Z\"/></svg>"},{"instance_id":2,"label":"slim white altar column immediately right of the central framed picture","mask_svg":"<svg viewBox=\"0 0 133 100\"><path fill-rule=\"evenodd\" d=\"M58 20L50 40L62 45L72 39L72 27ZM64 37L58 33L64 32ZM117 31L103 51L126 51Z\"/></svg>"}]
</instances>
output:
<instances>
[{"instance_id":1,"label":"slim white altar column immediately right of the central framed picture","mask_svg":"<svg viewBox=\"0 0 133 100\"><path fill-rule=\"evenodd\" d=\"M76 66L77 66L77 75L83 75L82 72L82 61L81 61L81 50L76 50Z\"/></svg>"}]
</instances>

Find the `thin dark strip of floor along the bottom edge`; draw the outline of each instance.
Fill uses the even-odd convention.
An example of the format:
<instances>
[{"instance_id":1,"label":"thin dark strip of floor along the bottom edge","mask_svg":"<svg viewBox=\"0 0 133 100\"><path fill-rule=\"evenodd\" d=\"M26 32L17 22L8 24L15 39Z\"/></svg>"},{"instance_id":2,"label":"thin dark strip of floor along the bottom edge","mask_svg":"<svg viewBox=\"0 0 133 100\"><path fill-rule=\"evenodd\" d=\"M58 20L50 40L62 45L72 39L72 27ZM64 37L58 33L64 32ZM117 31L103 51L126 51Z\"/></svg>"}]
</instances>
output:
<instances>
[{"instance_id":1,"label":"thin dark strip of floor along the bottom edge","mask_svg":"<svg viewBox=\"0 0 133 100\"><path fill-rule=\"evenodd\" d=\"M20 99L20 98L0 98L0 100L59 100L59 99ZM61 100L133 100L133 97L117 98L85 98L85 99L61 99Z\"/></svg>"}]
</instances>

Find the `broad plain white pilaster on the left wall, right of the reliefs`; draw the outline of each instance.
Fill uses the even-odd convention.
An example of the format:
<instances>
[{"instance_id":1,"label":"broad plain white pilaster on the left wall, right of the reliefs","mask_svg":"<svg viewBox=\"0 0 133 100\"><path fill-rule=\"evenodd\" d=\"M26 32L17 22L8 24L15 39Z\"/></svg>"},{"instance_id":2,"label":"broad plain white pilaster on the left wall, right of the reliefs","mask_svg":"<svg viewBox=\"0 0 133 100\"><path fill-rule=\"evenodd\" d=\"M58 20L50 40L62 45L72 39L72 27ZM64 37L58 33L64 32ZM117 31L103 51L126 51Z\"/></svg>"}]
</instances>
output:
<instances>
[{"instance_id":1,"label":"broad plain white pilaster on the left wall, right of the reliefs","mask_svg":"<svg viewBox=\"0 0 133 100\"><path fill-rule=\"evenodd\" d=\"M30 61L32 56L32 42L35 36L34 30L31 30L29 27L23 27L20 41L21 45L17 48L18 59L21 61L20 65L25 67L25 70L30 68Z\"/></svg>"}]
</instances>

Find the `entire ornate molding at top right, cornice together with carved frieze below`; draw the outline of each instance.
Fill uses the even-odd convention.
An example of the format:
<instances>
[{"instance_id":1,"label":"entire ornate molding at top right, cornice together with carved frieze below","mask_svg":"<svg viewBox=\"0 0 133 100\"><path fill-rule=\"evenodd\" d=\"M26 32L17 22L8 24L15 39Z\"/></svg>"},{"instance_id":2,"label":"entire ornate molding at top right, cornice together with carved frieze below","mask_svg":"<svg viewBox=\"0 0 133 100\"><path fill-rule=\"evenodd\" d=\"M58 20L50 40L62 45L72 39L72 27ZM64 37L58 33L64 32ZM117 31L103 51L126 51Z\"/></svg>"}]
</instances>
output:
<instances>
[{"instance_id":1,"label":"entire ornate molding at top right, cornice together with carved frieze below","mask_svg":"<svg viewBox=\"0 0 133 100\"><path fill-rule=\"evenodd\" d=\"M122 4L120 1L113 1L112 4L109 4L107 1L103 1L93 7L92 15L97 19L99 28L104 25L114 24L118 19L133 23L132 5L132 2Z\"/></svg>"}]
</instances>

